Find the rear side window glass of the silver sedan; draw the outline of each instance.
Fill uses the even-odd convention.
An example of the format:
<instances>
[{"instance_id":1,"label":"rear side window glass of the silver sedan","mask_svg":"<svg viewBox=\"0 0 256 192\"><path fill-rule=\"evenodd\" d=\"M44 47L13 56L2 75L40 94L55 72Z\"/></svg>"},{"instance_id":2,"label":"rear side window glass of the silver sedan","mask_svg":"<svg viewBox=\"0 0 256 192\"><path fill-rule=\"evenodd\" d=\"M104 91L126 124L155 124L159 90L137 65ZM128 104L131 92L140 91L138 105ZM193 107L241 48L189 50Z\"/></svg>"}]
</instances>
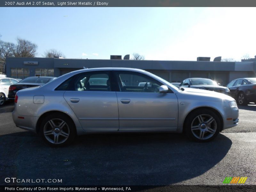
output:
<instances>
[{"instance_id":1,"label":"rear side window glass of the silver sedan","mask_svg":"<svg viewBox=\"0 0 256 192\"><path fill-rule=\"evenodd\" d=\"M63 82L57 91L111 91L108 72L86 72Z\"/></svg>"}]
</instances>

